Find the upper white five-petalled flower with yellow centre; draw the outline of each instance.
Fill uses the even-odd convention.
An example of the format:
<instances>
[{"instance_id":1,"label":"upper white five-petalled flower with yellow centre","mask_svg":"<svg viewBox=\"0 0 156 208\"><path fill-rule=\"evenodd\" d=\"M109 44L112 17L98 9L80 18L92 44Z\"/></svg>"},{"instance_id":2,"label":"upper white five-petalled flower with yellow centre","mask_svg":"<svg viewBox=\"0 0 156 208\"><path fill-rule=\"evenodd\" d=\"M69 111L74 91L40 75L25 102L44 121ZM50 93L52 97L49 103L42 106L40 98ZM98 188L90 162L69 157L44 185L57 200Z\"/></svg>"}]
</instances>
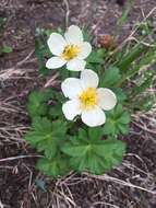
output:
<instances>
[{"instance_id":1,"label":"upper white five-petalled flower with yellow centre","mask_svg":"<svg viewBox=\"0 0 156 208\"><path fill-rule=\"evenodd\" d=\"M92 51L92 46L83 42L83 34L79 26L72 25L68 28L64 37L52 33L47 42L50 51L55 57L48 59L48 69L60 68L67 63L71 71L82 71L85 68L84 60Z\"/></svg>"}]
</instances>

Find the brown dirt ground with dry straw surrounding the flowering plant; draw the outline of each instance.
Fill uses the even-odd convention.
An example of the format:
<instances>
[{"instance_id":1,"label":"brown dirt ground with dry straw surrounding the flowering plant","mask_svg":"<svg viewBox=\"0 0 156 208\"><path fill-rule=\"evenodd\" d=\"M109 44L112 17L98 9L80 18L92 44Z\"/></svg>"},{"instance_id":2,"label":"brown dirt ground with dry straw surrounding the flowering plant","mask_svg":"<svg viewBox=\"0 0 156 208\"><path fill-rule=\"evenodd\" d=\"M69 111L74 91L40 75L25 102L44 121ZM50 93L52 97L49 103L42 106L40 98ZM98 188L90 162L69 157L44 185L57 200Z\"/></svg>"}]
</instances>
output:
<instances>
[{"instance_id":1,"label":"brown dirt ground with dry straw surrounding the flowering plant","mask_svg":"<svg viewBox=\"0 0 156 208\"><path fill-rule=\"evenodd\" d=\"M0 43L13 53L0 56L0 208L156 208L156 111L135 115L122 164L103 176L71 173L57 181L35 170L37 153L23 140L29 127L27 94L45 83L34 56L36 27L87 26L113 34L121 0L0 0ZM134 0L121 39L156 0ZM45 183L45 190L36 182Z\"/></svg>"}]
</instances>

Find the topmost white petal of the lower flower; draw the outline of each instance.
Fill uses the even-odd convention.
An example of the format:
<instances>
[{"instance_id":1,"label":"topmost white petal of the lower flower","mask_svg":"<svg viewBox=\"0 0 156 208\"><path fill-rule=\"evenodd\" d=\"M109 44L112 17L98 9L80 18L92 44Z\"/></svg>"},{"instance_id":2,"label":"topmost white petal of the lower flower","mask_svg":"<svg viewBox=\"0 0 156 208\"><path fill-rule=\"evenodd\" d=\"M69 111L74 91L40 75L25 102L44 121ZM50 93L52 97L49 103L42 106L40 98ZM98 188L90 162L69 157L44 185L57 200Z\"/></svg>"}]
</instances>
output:
<instances>
[{"instance_id":1,"label":"topmost white petal of the lower flower","mask_svg":"<svg viewBox=\"0 0 156 208\"><path fill-rule=\"evenodd\" d=\"M97 88L99 79L93 70L85 69L81 72L81 81L84 88Z\"/></svg>"}]
</instances>

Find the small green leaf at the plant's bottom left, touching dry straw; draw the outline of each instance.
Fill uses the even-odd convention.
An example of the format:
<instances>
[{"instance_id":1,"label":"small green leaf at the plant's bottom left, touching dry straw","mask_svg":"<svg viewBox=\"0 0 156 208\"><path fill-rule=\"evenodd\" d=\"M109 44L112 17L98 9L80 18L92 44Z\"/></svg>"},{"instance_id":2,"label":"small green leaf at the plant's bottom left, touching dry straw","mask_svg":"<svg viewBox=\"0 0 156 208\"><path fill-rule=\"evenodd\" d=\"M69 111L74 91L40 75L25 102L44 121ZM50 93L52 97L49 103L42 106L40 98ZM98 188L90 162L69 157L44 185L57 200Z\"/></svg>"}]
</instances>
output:
<instances>
[{"instance_id":1,"label":"small green leaf at the plant's bottom left, touching dry straw","mask_svg":"<svg viewBox=\"0 0 156 208\"><path fill-rule=\"evenodd\" d=\"M36 166L46 175L53 177L64 175L70 171L68 159L64 155L58 155L50 160L47 158L39 159Z\"/></svg>"}]
</instances>

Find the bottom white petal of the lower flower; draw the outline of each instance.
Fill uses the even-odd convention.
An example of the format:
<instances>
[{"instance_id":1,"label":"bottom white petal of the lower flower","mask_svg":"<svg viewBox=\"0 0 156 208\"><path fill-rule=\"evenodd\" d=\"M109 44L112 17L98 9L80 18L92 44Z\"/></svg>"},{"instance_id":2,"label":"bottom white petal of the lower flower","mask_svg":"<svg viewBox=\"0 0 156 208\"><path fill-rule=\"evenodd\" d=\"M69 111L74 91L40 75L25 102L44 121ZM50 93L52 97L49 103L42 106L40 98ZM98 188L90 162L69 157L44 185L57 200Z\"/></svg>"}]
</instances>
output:
<instances>
[{"instance_id":1,"label":"bottom white petal of the lower flower","mask_svg":"<svg viewBox=\"0 0 156 208\"><path fill-rule=\"evenodd\" d=\"M106 116L103 109L95 108L92 111L82 112L82 122L89 127L100 126L105 124Z\"/></svg>"}]
</instances>

